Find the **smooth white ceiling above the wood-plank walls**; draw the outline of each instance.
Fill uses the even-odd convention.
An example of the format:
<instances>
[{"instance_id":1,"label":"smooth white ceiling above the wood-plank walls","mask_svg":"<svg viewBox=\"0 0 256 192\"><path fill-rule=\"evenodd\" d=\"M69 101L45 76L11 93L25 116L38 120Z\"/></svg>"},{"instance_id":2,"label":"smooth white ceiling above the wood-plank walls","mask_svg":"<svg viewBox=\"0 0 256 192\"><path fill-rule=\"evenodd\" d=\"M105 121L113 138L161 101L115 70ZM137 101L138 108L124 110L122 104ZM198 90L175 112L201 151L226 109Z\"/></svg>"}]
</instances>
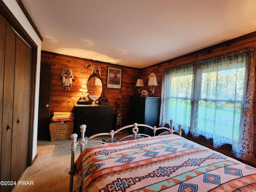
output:
<instances>
[{"instance_id":1,"label":"smooth white ceiling above the wood-plank walls","mask_svg":"<svg viewBox=\"0 0 256 192\"><path fill-rule=\"evenodd\" d=\"M256 31L256 0L22 0L42 50L144 68Z\"/></svg>"}]
</instances>

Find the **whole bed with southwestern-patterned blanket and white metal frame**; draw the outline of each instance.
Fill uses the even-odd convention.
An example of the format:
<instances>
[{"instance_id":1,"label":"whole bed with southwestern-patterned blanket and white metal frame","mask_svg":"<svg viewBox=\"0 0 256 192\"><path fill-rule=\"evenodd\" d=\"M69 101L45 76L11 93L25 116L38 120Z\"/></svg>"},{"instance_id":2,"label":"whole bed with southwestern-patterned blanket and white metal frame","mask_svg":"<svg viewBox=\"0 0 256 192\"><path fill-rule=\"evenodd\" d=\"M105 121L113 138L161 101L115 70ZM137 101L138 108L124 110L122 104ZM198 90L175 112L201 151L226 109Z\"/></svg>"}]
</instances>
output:
<instances>
[{"instance_id":1,"label":"whole bed with southwestern-patterned blanket and white metal frame","mask_svg":"<svg viewBox=\"0 0 256 192\"><path fill-rule=\"evenodd\" d=\"M71 162L70 191L77 174L82 177L83 192L255 192L256 168L181 137L181 126L173 134L172 122L170 128L135 123L107 135L113 141L118 131L130 127L132 140L124 138L85 150L84 145L94 137L84 138L86 126L81 126L79 142L72 134L72 155L77 144L83 151ZM152 129L154 136L138 134L142 127Z\"/></svg>"}]
</instances>

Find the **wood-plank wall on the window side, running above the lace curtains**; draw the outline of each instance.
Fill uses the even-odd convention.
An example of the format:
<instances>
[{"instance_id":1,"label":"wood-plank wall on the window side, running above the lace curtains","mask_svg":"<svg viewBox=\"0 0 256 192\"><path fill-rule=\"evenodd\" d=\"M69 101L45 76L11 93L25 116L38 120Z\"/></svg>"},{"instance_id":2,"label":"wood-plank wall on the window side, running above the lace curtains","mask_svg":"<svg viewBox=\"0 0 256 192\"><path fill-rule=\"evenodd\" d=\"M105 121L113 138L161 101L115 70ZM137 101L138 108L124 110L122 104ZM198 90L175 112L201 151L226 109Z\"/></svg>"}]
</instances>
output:
<instances>
[{"instance_id":1,"label":"wood-plank wall on the window side, running above the lace curtains","mask_svg":"<svg viewBox=\"0 0 256 192\"><path fill-rule=\"evenodd\" d=\"M156 77L158 80L158 87L156 88L155 96L161 96L162 90L162 74L165 68L171 68L174 66L178 66L181 64L190 63L192 61L202 60L210 57L214 57L220 54L225 54L228 52L232 52L235 50L241 50L246 47L256 47L256 32L222 42L220 44L198 50L196 52L186 54L184 56L180 56L178 58L174 58L168 60L166 62L162 62L159 64L155 64L154 66L150 66L148 68L142 69L141 78L147 82L147 78L151 72L156 73ZM256 78L255 78L256 79ZM254 154L256 155L256 84L254 89Z\"/></svg>"}]
</instances>

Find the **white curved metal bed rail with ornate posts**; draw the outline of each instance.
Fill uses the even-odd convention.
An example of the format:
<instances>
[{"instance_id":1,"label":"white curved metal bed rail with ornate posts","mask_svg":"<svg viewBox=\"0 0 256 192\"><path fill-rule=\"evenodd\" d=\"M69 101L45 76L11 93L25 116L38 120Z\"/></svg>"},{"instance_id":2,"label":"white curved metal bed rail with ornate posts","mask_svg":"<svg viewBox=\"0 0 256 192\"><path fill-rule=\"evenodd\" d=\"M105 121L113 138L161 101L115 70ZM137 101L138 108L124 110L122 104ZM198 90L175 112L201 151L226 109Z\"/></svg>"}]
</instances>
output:
<instances>
[{"instance_id":1,"label":"white curved metal bed rail with ornate posts","mask_svg":"<svg viewBox=\"0 0 256 192\"><path fill-rule=\"evenodd\" d=\"M125 137L117 140L116 142L126 140L126 138L128 138L128 137L129 138L132 137L132 139L134 139L134 140L136 140L136 138L138 136L151 137L150 135L147 135L147 134L138 133L139 127L150 128L151 130L153 130L153 136L156 136L156 132L158 130L163 131L158 135L177 134L177 135L181 136L182 126L178 125L178 130L174 130L173 127L172 127L172 123L173 123L173 120L170 120L170 128L167 128L167 127L158 127L157 128L156 126L152 127L152 126L146 125L146 124L134 123L134 124L131 124L131 125L121 127L121 128L119 128L115 131L111 130L109 133L98 133L98 134L94 134L90 137L85 137L84 136L84 134L86 132L86 125L81 125L80 126L80 132L81 132L80 141L77 141L77 138L78 138L77 134L72 134L70 136L70 138L71 138L71 166L70 166L70 172L69 172L69 174L70 174L70 188L69 188L69 191L72 192L72 190L73 190L73 180L74 180L74 171L75 171L74 170L74 159L75 159L75 151L76 151L76 146L77 145L80 146L80 152L82 152L84 150L85 145L96 146L96 145L99 145L99 144L105 144L106 143L104 141L92 140L93 138L96 138L98 136L110 136L111 142L113 142L113 138L114 138L115 134L117 134L118 132L122 132L122 130L129 129L129 128L132 128L132 133L133 134L125 136Z\"/></svg>"}]
</instances>

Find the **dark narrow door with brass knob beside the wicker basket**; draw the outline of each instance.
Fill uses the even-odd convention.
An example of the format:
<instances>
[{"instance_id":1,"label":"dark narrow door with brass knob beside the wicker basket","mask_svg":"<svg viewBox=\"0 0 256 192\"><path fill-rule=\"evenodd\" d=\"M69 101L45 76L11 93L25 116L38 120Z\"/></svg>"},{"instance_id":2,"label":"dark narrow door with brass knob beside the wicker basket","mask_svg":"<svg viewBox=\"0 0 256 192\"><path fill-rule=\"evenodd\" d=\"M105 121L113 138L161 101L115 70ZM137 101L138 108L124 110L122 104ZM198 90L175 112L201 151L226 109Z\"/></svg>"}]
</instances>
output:
<instances>
[{"instance_id":1,"label":"dark narrow door with brass knob beside the wicker basket","mask_svg":"<svg viewBox=\"0 0 256 192\"><path fill-rule=\"evenodd\" d=\"M38 140L50 140L50 93L52 65L41 62L38 106Z\"/></svg>"}]
</instances>

